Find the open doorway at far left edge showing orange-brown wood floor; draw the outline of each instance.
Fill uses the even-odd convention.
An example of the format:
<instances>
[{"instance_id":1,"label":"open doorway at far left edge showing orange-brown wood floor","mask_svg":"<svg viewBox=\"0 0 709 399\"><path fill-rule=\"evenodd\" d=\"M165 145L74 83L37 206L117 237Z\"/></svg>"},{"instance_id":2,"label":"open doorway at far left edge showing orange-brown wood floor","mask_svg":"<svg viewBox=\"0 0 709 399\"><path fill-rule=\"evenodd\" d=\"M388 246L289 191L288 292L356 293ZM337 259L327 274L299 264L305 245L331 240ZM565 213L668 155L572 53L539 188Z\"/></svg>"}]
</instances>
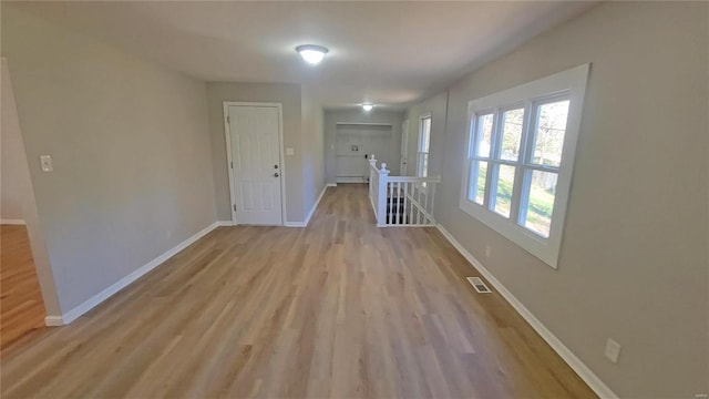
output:
<instances>
[{"instance_id":1,"label":"open doorway at far left edge showing orange-brown wood floor","mask_svg":"<svg viewBox=\"0 0 709 399\"><path fill-rule=\"evenodd\" d=\"M48 273L30 164L4 58L0 70L0 354L4 354L8 348L30 340L44 328L48 310L56 311L58 306L52 307L55 303L45 306L44 301L45 297L55 297L53 280ZM40 280L42 277L44 279Z\"/></svg>"}]
</instances>

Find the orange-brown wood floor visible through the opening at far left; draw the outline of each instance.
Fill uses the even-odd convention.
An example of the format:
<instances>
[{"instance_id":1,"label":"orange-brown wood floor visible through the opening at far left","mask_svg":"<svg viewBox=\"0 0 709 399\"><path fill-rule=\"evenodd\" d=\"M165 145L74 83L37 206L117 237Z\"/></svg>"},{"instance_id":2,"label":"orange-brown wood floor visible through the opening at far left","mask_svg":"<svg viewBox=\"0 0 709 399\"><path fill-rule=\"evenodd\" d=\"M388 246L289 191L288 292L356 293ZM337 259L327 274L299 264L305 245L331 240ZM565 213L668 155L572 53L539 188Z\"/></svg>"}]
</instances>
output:
<instances>
[{"instance_id":1,"label":"orange-brown wood floor visible through the opening at far left","mask_svg":"<svg viewBox=\"0 0 709 399\"><path fill-rule=\"evenodd\" d=\"M0 351L44 328L44 301L25 226L0 226ZM1 355L0 355L1 356Z\"/></svg>"}]
</instances>

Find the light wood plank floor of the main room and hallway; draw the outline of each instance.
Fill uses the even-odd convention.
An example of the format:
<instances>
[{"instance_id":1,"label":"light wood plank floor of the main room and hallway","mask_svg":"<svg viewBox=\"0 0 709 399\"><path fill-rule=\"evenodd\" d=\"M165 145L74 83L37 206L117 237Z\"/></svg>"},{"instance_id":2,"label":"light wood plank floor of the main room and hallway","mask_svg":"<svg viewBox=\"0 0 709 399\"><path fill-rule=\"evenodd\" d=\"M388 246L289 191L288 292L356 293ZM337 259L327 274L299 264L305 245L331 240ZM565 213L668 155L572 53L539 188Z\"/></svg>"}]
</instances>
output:
<instances>
[{"instance_id":1,"label":"light wood plank floor of the main room and hallway","mask_svg":"<svg viewBox=\"0 0 709 399\"><path fill-rule=\"evenodd\" d=\"M434 228L367 187L307 228L220 227L2 358L2 397L594 398Z\"/></svg>"}]
</instances>

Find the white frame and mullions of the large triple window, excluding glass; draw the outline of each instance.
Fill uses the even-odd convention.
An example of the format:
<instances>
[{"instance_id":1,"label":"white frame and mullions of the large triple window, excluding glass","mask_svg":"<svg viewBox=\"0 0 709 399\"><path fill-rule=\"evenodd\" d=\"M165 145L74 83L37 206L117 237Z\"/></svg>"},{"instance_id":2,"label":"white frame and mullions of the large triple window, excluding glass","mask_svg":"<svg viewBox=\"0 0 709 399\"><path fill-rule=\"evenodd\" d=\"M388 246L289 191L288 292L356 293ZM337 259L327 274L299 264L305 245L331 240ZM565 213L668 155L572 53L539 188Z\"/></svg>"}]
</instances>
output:
<instances>
[{"instance_id":1,"label":"white frame and mullions of the large triple window, excluding glass","mask_svg":"<svg viewBox=\"0 0 709 399\"><path fill-rule=\"evenodd\" d=\"M463 168L463 182L461 185L460 207L465 213L475 217L480 222L490 226L504 237L508 238L513 243L517 244L532 255L542 259L553 268L558 267L558 255L562 244L562 236L564 229L564 219L566 216L566 207L568 202L568 194L572 183L574 158L576 153L576 142L578 140L578 131L580 127L580 117L584 106L584 95L586 92L586 82L588 80L588 71L590 64L583 64L567 71L555 73L551 76L546 76L530 83L521 84L515 88L503 90L501 92L486 95L481 99L472 100L467 104L467 132L469 132L469 146L465 153L465 165ZM556 193L554 197L554 211L552 214L552 223L549 227L549 236L547 238L537 235L531 229L520 225L520 202L522 201L522 188L524 180L525 168L534 168L528 163L524 162L530 157L530 152L533 151L531 143L533 137L527 137L532 131L531 119L536 112L536 104L544 103L554 99L568 99L569 109L566 122L566 132L564 134L564 145L562 150L562 160L557 171L558 173L556 183ZM493 162L487 163L487 181L485 185L485 201L484 205L480 205L474 201L467 198L467 194L471 187L470 172L472 162L474 158L474 137L476 129L477 115L489 114L491 111L494 113L493 122L493 137L495 131L501 130L500 117L502 112L524 106L524 126L522 131L520 156L516 163L515 170L515 183L512 194L512 209L510 218L502 216L490 209L489 198L491 197L491 176L493 171ZM494 141L494 139L493 139ZM495 151L495 143L491 149ZM524 156L523 156L524 154ZM544 170L544 167L535 167L536 170Z\"/></svg>"}]
</instances>

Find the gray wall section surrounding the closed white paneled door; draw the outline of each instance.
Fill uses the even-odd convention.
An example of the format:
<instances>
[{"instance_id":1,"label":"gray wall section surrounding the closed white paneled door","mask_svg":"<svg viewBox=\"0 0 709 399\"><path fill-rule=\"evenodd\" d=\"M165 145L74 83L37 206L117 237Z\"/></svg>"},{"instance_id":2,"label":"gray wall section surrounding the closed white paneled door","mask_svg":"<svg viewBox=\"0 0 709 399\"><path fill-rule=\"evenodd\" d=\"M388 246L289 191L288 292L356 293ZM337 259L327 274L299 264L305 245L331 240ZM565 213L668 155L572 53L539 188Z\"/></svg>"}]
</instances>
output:
<instances>
[{"instance_id":1,"label":"gray wall section surrounding the closed white paneled door","mask_svg":"<svg viewBox=\"0 0 709 399\"><path fill-rule=\"evenodd\" d=\"M302 110L301 88L286 83L207 83L209 132L212 135L212 162L216 190L217 218L230 221L229 174L226 164L226 135L224 133L224 102L266 102L282 104L284 147L294 149L286 155L286 217L288 222L301 222L304 213L302 181Z\"/></svg>"}]
</instances>

